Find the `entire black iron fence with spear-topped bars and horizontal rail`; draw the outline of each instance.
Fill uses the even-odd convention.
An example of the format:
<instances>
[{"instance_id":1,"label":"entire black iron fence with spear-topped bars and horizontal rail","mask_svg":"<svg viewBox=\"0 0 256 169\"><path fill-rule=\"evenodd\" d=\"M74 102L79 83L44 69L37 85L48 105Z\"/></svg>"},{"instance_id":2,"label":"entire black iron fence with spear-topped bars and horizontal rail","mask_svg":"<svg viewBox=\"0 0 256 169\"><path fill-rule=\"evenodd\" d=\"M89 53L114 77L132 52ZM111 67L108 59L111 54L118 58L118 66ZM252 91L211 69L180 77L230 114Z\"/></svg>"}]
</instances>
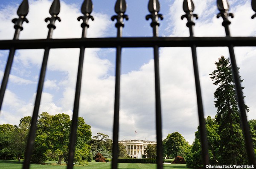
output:
<instances>
[{"instance_id":1,"label":"entire black iron fence with spear-topped bars and horizontal rail","mask_svg":"<svg viewBox=\"0 0 256 169\"><path fill-rule=\"evenodd\" d=\"M256 0L252 0L252 9L256 12ZM117 0L115 4L115 12L111 20L116 20L117 37L116 38L86 38L87 28L89 28L88 20L94 20L91 16L93 11L92 0L84 0L81 6L81 13L84 16L78 18L82 20L82 35L80 39L52 39L53 30L56 28L55 21L61 21L58 17L60 12L60 1L53 0L52 6L49 10L51 17L45 19L49 21L47 26L48 36L47 39L28 39L19 40L20 31L23 30L23 22L28 23L26 15L29 12L28 0L23 0L20 4L16 19L12 22L15 24L15 35L13 40L0 40L0 50L9 50L9 57L6 63L6 69L3 76L3 81L0 88L0 109L3 103L3 97L6 91L6 85L9 79L10 70L12 68L12 62L17 49L44 49L44 58L41 66L41 73L38 82L38 89L35 98L35 106L32 115L31 127L29 132L29 138L26 146L25 161L23 163L23 169L29 169L30 157L32 155L35 130L38 118L39 105L41 101L41 95L44 85L44 78L47 68L47 60L49 56L49 50L52 48L80 48L79 66L76 81L76 93L73 108L73 121L70 134L70 145L68 155L67 169L73 168L74 151L76 143L76 131L77 120L79 113L79 98L81 91L81 77L84 62L84 50L85 48L116 48L116 81L115 81L115 100L114 100L114 121L113 121L113 162L112 169L117 169L117 149L118 149L118 133L119 133L119 93L120 93L120 65L121 65L121 50L124 47L138 48L149 47L154 48L154 74L155 74L155 100L156 100L156 131L157 131L157 169L163 169L163 148L162 148L162 121L161 121L161 100L160 100L160 76L159 76L159 47L191 47L192 60L194 66L195 75L195 87L198 104L198 117L200 124L201 145L202 145L202 158L204 166L209 164L209 155L207 150L207 136L204 122L204 109L202 104L200 79L198 73L197 51L196 47L213 47L213 46L226 46L230 52L230 60L233 69L234 82L236 85L236 94L239 103L239 110L241 113L241 124L245 138L247 156L250 164L255 165L254 150L252 146L250 130L247 122L247 116L245 111L245 104L243 99L243 93L241 90L241 84L239 80L239 73L236 66L236 57L234 53L235 46L256 46L256 37L230 37L230 20L228 17L233 17L233 14L228 13L229 4L227 0L217 0L217 6L220 13L217 17L222 17L222 25L225 28L226 37L194 37L193 26L195 25L193 18L198 19L197 14L193 14L194 3L192 0L183 1L184 14L181 19L186 18L188 22L186 26L189 28L189 37L158 37L158 27L160 25L159 20L163 19L163 15L159 14L160 3L158 0L149 0L148 11L150 14L146 16L146 20L151 19L151 27L153 28L153 37L122 37L122 28L124 27L124 20L128 20L128 16L125 14L126 2L125 0ZM256 17L256 14L252 16L252 19Z\"/></svg>"}]
</instances>

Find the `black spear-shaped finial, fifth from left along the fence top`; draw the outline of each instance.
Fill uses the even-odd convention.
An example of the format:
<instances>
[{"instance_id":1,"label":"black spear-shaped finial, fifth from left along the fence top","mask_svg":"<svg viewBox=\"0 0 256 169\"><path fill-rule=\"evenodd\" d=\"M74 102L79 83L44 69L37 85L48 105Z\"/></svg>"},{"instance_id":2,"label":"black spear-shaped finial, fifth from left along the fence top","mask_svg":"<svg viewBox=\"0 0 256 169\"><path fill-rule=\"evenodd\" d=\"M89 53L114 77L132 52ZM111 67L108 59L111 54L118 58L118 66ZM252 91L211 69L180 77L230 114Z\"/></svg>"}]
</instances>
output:
<instances>
[{"instance_id":1,"label":"black spear-shaped finial, fifth from left along the fence top","mask_svg":"<svg viewBox=\"0 0 256 169\"><path fill-rule=\"evenodd\" d=\"M158 0L149 0L148 2L148 11L151 14L148 14L146 16L146 20L149 20L149 18L151 18L152 22L151 22L151 27L154 26L159 26L159 21L158 18L160 18L161 20L163 20L163 15L162 14L158 14L158 12L160 11L160 4Z\"/></svg>"}]
</instances>

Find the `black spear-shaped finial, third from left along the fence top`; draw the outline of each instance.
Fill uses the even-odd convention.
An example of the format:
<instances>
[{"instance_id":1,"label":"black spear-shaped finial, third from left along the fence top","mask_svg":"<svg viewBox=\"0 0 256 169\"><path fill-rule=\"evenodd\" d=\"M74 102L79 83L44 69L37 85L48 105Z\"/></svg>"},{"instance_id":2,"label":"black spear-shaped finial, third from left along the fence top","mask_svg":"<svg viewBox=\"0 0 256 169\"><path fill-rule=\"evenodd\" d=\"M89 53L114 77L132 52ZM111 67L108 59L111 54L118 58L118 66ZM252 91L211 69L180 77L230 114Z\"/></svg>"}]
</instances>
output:
<instances>
[{"instance_id":1,"label":"black spear-shaped finial, third from left along the fence top","mask_svg":"<svg viewBox=\"0 0 256 169\"><path fill-rule=\"evenodd\" d=\"M77 18L78 21L83 20L83 23L81 23L82 28L85 28L85 27L89 28L89 25L88 25L89 19L94 20L93 16L90 15L92 11L93 11L92 1L84 0L84 3L82 4L82 7L81 7L81 12L82 14L84 14L84 16Z\"/></svg>"}]
</instances>

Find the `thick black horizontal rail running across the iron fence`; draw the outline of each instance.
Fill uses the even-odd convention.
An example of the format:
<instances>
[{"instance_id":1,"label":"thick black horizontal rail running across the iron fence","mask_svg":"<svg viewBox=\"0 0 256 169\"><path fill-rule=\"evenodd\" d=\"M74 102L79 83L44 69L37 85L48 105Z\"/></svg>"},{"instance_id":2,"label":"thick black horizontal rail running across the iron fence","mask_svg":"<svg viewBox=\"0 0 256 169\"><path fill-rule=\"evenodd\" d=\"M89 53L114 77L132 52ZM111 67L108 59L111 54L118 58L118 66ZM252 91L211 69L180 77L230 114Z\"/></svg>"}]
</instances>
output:
<instances>
[{"instance_id":1,"label":"thick black horizontal rail running across the iron fence","mask_svg":"<svg viewBox=\"0 0 256 169\"><path fill-rule=\"evenodd\" d=\"M253 47L256 37L122 37L86 39L28 39L0 40L0 49L43 49L49 48L145 48L154 47L227 47L228 45Z\"/></svg>"}]
</instances>

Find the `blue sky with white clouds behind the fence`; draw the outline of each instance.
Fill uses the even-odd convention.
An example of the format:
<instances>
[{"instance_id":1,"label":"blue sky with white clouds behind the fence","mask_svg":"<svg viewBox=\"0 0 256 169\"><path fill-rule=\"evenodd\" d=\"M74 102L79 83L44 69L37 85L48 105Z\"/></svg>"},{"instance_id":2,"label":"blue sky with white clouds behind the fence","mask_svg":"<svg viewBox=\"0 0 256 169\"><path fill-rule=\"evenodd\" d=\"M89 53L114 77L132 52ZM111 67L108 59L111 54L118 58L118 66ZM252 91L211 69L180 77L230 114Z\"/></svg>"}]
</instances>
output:
<instances>
[{"instance_id":1,"label":"blue sky with white clouds behind the fence","mask_svg":"<svg viewBox=\"0 0 256 169\"><path fill-rule=\"evenodd\" d=\"M151 37L151 21L146 21L149 14L148 0L126 0L126 14L123 37ZM11 20L17 17L17 7L21 0L0 1L0 39L12 39L14 34ZM88 37L115 37L116 21L114 15L115 0L93 0L93 17L89 22ZM162 37L187 37L189 30L184 14L182 0L160 0L159 34ZM230 0L230 12L235 14L230 25L232 36L255 36L256 20L250 0ZM77 17L81 16L82 0L62 0L61 22L53 38L79 38L81 27ZM195 36L225 36L222 19L217 19L216 0L194 0ZM47 23L50 0L29 0L29 23L23 23L24 30L20 39L44 39L47 37ZM112 138L113 102L115 79L115 48L86 49L79 116L84 117L91 126L93 135L97 132L108 134ZM215 70L214 63L222 55L229 57L227 48L197 48L199 73L204 101L205 116L216 114L212 85L209 73ZM248 119L256 119L256 48L235 48L236 59L245 86L246 104L250 107ZM0 51L0 78L9 51ZM20 118L32 115L38 76L43 58L43 50L18 50L15 54L7 91L0 112L0 124L19 124ZM75 93L79 49L52 49L47 65L47 75L39 112L51 115L68 113L72 117ZM195 95L195 82L190 48L160 48L160 83L162 99L163 139L168 133L180 132L192 144L194 132L198 126ZM123 48L120 96L119 140L147 139L156 140L155 99L154 99L154 61L152 48Z\"/></svg>"}]
</instances>

